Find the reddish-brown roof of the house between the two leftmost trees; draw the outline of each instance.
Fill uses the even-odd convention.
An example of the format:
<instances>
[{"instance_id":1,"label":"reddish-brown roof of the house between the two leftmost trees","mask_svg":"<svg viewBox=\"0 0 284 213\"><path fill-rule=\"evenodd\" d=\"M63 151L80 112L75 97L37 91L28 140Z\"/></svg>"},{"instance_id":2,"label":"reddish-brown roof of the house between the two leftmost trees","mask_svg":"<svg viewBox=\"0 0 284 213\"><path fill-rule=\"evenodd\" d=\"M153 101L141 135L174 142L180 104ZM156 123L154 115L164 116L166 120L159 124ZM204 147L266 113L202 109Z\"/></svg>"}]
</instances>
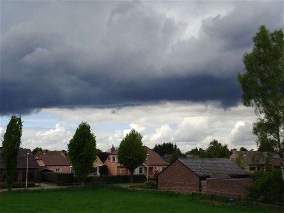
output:
<instances>
[{"instance_id":1,"label":"reddish-brown roof of the house between the two leftmost trees","mask_svg":"<svg viewBox=\"0 0 284 213\"><path fill-rule=\"evenodd\" d=\"M71 163L66 158L62 151L38 151L36 154L37 160L42 160L46 166L70 166Z\"/></svg>"}]
</instances>

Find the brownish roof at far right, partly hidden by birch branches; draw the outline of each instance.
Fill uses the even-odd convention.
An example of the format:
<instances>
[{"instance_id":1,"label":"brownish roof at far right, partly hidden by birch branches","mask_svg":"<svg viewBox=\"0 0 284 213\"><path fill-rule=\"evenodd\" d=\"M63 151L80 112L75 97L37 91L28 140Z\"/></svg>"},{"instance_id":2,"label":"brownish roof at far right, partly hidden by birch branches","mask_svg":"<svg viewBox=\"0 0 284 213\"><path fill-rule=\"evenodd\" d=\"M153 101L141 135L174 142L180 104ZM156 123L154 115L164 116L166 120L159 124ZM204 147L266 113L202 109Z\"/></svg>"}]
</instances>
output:
<instances>
[{"instance_id":1,"label":"brownish roof at far right, partly hidden by birch branches","mask_svg":"<svg viewBox=\"0 0 284 213\"><path fill-rule=\"evenodd\" d=\"M237 151L247 165L264 165L268 157L268 162L273 158L280 158L278 154L258 151Z\"/></svg>"}]
</instances>

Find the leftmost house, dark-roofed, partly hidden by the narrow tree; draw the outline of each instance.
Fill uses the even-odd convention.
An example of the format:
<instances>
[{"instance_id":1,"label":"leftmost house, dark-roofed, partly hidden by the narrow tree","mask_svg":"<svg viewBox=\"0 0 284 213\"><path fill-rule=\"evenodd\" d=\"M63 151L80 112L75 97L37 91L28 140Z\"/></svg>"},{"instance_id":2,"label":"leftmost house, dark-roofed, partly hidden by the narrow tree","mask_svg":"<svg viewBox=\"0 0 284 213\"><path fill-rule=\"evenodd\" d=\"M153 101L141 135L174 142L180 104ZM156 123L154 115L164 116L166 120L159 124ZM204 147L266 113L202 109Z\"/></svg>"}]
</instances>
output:
<instances>
[{"instance_id":1,"label":"leftmost house, dark-roofed, partly hidden by the narrow tree","mask_svg":"<svg viewBox=\"0 0 284 213\"><path fill-rule=\"evenodd\" d=\"M6 175L4 159L1 156L2 147L0 147L0 182L4 182L4 177ZM28 181L34 181L35 172L38 171L40 167L37 163L32 151L30 149L19 149L18 161L17 161L17 171L15 174L15 182L24 182L27 177L27 156L28 159Z\"/></svg>"}]
</instances>

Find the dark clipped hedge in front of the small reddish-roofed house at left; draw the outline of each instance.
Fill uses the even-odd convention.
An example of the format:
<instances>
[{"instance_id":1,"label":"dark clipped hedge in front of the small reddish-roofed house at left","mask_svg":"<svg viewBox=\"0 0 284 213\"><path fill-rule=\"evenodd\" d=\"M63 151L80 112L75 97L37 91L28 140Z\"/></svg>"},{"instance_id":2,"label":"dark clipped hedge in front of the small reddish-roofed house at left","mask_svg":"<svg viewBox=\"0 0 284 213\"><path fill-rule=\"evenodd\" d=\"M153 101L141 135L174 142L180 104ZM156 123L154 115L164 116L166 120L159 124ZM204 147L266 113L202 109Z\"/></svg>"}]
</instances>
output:
<instances>
[{"instance_id":1,"label":"dark clipped hedge in front of the small reddish-roofed house at left","mask_svg":"<svg viewBox=\"0 0 284 213\"><path fill-rule=\"evenodd\" d=\"M42 182L52 182L56 184L71 184L74 182L73 173L41 172Z\"/></svg>"}]
</instances>

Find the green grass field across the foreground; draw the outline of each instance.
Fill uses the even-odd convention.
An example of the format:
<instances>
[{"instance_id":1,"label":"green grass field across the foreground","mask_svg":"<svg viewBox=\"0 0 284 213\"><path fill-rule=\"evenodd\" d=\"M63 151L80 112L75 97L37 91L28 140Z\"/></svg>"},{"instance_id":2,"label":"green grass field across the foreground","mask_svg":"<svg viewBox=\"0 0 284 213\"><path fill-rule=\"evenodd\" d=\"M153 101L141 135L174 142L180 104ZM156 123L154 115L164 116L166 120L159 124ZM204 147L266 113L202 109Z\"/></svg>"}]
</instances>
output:
<instances>
[{"instance_id":1,"label":"green grass field across the foreground","mask_svg":"<svg viewBox=\"0 0 284 213\"><path fill-rule=\"evenodd\" d=\"M267 210L241 204L213 204L193 199L189 194L128 190L118 186L10 191L0 195L0 212L245 213Z\"/></svg>"}]
</instances>

